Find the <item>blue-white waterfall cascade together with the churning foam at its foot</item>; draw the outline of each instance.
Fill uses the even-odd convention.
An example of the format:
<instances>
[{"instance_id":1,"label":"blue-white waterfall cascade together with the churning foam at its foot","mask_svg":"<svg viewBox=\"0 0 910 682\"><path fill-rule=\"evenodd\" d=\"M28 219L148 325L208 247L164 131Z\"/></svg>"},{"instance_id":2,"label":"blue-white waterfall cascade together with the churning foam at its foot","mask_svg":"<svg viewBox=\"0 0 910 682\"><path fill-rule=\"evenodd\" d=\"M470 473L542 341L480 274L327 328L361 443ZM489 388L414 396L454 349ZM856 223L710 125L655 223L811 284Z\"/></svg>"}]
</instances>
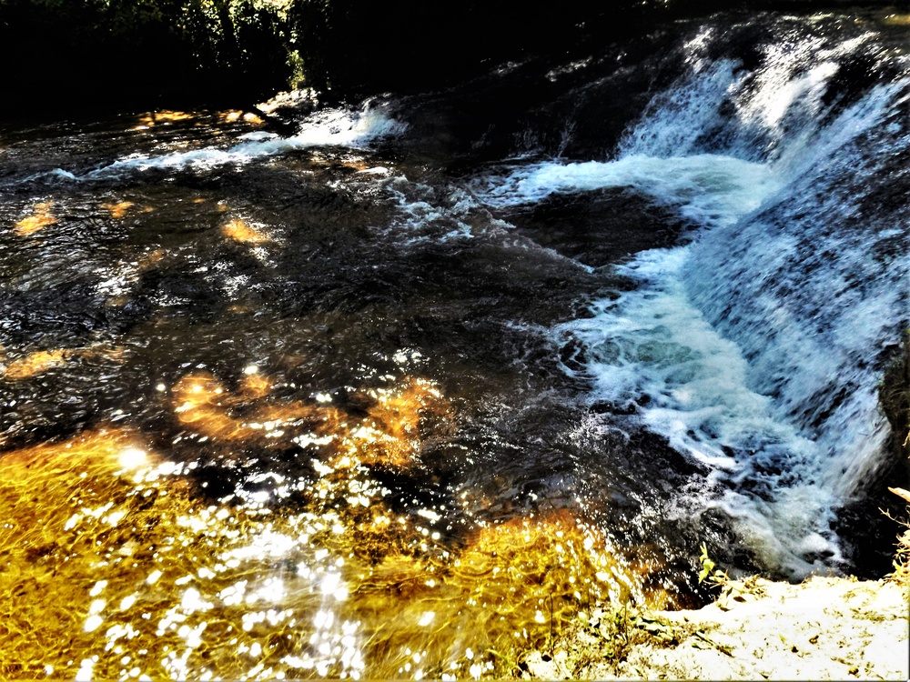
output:
<instances>
[{"instance_id":1,"label":"blue-white waterfall cascade together with the churning foam at its foot","mask_svg":"<svg viewBox=\"0 0 910 682\"><path fill-rule=\"evenodd\" d=\"M910 147L910 88L877 87L822 126L834 59L864 38L769 46L757 74L708 63L698 44L691 74L614 159L512 168L478 195L517 206L628 187L701 226L687 246L619 266L637 287L556 332L587 349L595 399L636 406L713 467L693 504L722 510L766 567L802 577L843 561L836 509L883 459L875 363L908 321L907 218L859 203Z\"/></svg>"}]
</instances>

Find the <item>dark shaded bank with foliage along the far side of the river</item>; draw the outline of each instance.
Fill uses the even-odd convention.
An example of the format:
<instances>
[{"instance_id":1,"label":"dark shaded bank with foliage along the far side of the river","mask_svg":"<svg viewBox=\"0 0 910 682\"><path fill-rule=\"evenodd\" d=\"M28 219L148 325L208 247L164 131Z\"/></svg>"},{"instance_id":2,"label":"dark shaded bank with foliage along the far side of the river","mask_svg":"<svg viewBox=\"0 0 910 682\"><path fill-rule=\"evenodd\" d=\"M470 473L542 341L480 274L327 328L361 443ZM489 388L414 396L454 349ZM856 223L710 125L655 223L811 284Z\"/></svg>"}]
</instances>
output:
<instances>
[{"instance_id":1,"label":"dark shaded bank with foliage along the far side of the river","mask_svg":"<svg viewBox=\"0 0 910 682\"><path fill-rule=\"evenodd\" d=\"M301 81L352 101L581 54L681 16L832 5L844 3L0 0L0 117L251 107Z\"/></svg>"}]
</instances>

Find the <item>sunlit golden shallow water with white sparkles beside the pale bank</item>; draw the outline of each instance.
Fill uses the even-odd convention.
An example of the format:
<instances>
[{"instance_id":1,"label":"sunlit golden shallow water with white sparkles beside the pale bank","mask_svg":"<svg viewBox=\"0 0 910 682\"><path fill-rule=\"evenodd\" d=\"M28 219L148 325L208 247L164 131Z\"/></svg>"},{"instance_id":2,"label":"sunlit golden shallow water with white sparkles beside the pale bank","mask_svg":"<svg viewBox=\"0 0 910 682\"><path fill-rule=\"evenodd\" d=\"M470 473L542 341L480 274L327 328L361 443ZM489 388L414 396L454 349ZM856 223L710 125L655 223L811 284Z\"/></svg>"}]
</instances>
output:
<instances>
[{"instance_id":1,"label":"sunlit golden shallow water with white sparkles beside the pale bank","mask_svg":"<svg viewBox=\"0 0 910 682\"><path fill-rule=\"evenodd\" d=\"M3 677L503 675L595 602L662 598L567 510L459 541L457 509L396 514L372 467L412 466L421 420L449 418L429 381L359 416L269 390L255 367L233 393L198 372L167 387L203 438L328 445L318 477L212 500L195 463L114 428L0 458Z\"/></svg>"}]
</instances>

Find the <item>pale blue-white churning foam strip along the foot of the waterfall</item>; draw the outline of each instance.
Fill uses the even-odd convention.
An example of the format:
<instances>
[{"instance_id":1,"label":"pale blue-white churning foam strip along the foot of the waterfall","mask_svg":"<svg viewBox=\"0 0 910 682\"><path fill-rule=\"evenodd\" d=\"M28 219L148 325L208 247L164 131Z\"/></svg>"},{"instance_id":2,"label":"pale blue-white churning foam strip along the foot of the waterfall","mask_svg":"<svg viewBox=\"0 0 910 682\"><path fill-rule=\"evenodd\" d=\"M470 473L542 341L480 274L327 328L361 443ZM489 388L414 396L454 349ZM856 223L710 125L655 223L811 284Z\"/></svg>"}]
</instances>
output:
<instances>
[{"instance_id":1,"label":"pale blue-white churning foam strip along the foot of the waterfall","mask_svg":"<svg viewBox=\"0 0 910 682\"><path fill-rule=\"evenodd\" d=\"M650 251L618 268L637 288L596 302L594 316L557 333L588 349L598 400L635 407L643 426L713 467L708 496L694 502L733 519L769 567L803 575L824 568L823 557L839 563L828 530L837 497L819 485L821 448L780 418L773 398L753 387L741 347L694 305L686 277L701 267L696 248Z\"/></svg>"}]
</instances>

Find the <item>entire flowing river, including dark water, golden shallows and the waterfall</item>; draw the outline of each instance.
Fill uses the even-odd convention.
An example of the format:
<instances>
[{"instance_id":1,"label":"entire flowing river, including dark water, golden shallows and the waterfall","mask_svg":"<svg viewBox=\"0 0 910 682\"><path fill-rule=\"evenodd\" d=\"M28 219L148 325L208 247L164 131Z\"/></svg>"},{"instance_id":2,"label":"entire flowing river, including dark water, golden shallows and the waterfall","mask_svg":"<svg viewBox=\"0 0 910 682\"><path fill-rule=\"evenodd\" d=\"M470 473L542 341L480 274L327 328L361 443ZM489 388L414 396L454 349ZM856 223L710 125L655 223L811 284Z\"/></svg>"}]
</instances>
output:
<instances>
[{"instance_id":1,"label":"entire flowing river, including dark water, golden shallows and the waterfall","mask_svg":"<svg viewBox=\"0 0 910 682\"><path fill-rule=\"evenodd\" d=\"M719 15L292 135L5 125L4 676L502 676L699 603L702 542L881 572L907 25Z\"/></svg>"}]
</instances>

